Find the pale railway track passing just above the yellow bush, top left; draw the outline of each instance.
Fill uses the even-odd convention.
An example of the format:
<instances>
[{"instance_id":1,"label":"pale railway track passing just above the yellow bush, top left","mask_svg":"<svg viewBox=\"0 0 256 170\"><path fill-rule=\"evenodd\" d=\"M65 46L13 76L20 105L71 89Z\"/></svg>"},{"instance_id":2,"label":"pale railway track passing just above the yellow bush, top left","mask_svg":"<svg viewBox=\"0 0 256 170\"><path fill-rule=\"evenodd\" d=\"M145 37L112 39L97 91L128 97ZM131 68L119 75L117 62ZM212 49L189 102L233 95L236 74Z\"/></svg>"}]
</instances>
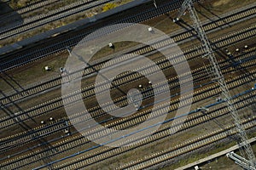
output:
<instances>
[{"instance_id":1,"label":"pale railway track passing just above the yellow bush, top left","mask_svg":"<svg viewBox=\"0 0 256 170\"><path fill-rule=\"evenodd\" d=\"M49 11L47 14L40 14L33 16L31 18L25 19L22 25L16 25L15 23L12 26L3 28L0 31L0 39L6 39L8 37L14 37L20 35L20 33L25 33L27 31L32 31L35 28L49 24L55 20L61 20L71 16L73 14L79 14L85 10L95 8L104 3L109 3L113 0L84 0L77 3L72 3L62 8L55 9L54 11Z\"/></svg>"}]
</instances>

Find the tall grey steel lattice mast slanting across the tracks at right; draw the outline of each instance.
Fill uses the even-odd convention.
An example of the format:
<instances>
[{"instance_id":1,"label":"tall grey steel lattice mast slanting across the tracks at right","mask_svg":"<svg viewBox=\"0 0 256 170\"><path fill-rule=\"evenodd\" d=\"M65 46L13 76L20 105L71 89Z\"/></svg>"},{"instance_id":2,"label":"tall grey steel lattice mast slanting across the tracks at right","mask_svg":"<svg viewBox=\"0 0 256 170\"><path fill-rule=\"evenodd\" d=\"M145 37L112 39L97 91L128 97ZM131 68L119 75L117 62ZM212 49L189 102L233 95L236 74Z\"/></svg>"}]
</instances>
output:
<instances>
[{"instance_id":1,"label":"tall grey steel lattice mast slanting across the tracks at right","mask_svg":"<svg viewBox=\"0 0 256 170\"><path fill-rule=\"evenodd\" d=\"M256 163L255 163L255 156L253 154L253 149L251 145L247 142L247 135L245 133L245 129L241 124L241 119L236 111L235 105L232 102L232 98L230 95L229 88L224 80L224 76L220 70L218 65L218 61L213 54L212 46L207 38L206 32L203 30L201 26L201 21L199 20L198 15L196 14L195 8L193 6L192 0L184 0L181 8L178 11L177 18L173 21L176 22L179 18L188 10L190 14L190 18L194 21L194 28L197 32L197 36L200 38L202 42L202 49L205 52L203 57L206 57L210 61L210 68L208 70L210 76L212 77L213 82L217 82L219 88L222 90L222 94L224 95L224 104L227 106L228 110L230 111L231 116L234 119L236 124L236 131L239 137L238 144L241 149L241 154L246 157L247 159L237 156L234 152L227 154L230 159L233 159L237 164L241 167L246 168L248 170L256 170ZM236 159L235 159L236 158Z\"/></svg>"}]
</instances>

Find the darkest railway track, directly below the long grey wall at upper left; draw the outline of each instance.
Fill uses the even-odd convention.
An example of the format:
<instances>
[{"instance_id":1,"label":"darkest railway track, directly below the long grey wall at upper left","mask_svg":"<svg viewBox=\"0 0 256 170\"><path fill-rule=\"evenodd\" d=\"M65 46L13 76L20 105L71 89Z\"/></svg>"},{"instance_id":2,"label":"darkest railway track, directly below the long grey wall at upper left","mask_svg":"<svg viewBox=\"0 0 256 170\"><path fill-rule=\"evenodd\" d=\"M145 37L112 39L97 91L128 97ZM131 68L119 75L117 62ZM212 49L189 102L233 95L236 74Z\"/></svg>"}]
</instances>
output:
<instances>
[{"instance_id":1,"label":"darkest railway track, directly below the long grey wall at upper left","mask_svg":"<svg viewBox=\"0 0 256 170\"><path fill-rule=\"evenodd\" d=\"M176 0L176 2L178 2ZM139 22L139 21L143 21L143 20L148 20L152 17L154 17L154 15L158 15L158 14L164 14L165 12L168 12L170 10L172 10L172 8L177 8L178 4L174 3L175 7L173 7L173 4L162 6L161 8L159 8L158 10L156 10L155 8L144 8L143 12L141 11L141 14L129 14L129 16L125 16L125 19L119 19L119 20L108 20L108 25L111 24L116 24L116 23L122 23L122 22ZM180 3L179 3L180 4ZM165 4L166 5L166 4ZM104 25L102 23L102 25ZM4 65L0 65L0 70L1 71L7 71L6 69L8 67L12 67L14 65L24 65L26 64L29 60L34 60L34 59L40 59L46 55L49 54L55 54L57 52L66 50L66 47L72 47L75 44L77 44L83 37L85 37L86 35L90 34L90 32L96 31L98 28L102 27L101 26L94 26L94 27L90 27L90 28L86 28L84 30L84 32L80 32L79 35L65 35L65 41L63 40L59 40L59 41L55 41L54 44L49 45L49 47L47 48L34 48L34 50L26 50L26 53L23 54L22 56L18 56L15 59L11 59L10 62L4 62L6 60L2 60L2 59L6 59L7 57L4 56L2 57L1 61L3 61L5 63ZM20 54L18 54L20 55ZM12 56L9 56L12 57ZM9 58L8 57L8 58ZM15 60L15 63L14 63ZM9 64L8 64L9 63ZM12 63L12 64L11 64ZM14 65L13 65L14 64ZM2 67L3 66L3 67Z\"/></svg>"}]
</instances>

